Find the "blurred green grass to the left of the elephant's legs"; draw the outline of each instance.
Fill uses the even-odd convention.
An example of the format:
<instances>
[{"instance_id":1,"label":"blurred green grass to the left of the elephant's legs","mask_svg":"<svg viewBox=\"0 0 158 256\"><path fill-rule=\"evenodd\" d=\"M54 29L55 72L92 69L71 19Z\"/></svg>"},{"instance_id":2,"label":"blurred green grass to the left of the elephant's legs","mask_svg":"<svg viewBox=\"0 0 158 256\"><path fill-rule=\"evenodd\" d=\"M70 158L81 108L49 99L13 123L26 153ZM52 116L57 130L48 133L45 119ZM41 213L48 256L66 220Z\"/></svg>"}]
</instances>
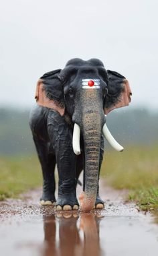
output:
<instances>
[{"instance_id":1,"label":"blurred green grass to the left of the elephant's legs","mask_svg":"<svg viewBox=\"0 0 158 256\"><path fill-rule=\"evenodd\" d=\"M42 172L35 156L0 158L0 200L17 197L42 185Z\"/></svg>"}]
</instances>

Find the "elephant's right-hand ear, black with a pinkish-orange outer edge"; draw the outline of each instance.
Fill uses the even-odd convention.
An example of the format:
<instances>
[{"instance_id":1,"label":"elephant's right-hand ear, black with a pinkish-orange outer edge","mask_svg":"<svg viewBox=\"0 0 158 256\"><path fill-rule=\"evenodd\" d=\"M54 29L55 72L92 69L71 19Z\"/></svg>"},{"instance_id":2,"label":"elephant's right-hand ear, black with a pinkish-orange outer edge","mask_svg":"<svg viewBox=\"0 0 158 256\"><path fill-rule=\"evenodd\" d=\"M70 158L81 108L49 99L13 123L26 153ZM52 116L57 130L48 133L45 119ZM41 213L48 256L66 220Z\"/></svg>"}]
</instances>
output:
<instances>
[{"instance_id":1,"label":"elephant's right-hand ear, black with a pinkish-orange outer edge","mask_svg":"<svg viewBox=\"0 0 158 256\"><path fill-rule=\"evenodd\" d=\"M127 79L115 72L107 70L108 75L108 94L104 101L104 113L107 115L115 108L128 106L131 102L131 88Z\"/></svg>"}]
</instances>

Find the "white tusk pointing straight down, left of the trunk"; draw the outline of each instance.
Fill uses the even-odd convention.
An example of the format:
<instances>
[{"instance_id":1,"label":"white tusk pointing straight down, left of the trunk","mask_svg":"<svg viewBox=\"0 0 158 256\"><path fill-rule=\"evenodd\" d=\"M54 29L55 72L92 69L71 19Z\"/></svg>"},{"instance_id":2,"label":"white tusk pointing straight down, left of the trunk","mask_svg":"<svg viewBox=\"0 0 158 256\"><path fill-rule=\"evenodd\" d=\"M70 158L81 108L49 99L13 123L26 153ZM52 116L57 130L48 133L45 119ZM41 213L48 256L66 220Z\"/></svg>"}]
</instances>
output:
<instances>
[{"instance_id":1,"label":"white tusk pointing straight down, left of the trunk","mask_svg":"<svg viewBox=\"0 0 158 256\"><path fill-rule=\"evenodd\" d=\"M74 154L76 154L77 156L80 155L80 126L76 123L74 124L72 147L74 150Z\"/></svg>"}]
</instances>

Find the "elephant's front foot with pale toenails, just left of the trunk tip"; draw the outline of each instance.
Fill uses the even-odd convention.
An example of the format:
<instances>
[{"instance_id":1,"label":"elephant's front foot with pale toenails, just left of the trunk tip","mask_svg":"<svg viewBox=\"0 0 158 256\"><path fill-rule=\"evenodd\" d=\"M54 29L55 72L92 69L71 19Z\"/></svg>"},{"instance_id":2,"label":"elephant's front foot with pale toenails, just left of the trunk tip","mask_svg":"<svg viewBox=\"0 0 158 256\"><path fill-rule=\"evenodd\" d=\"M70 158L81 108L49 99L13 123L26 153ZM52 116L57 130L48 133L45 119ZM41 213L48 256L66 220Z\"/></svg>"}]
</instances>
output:
<instances>
[{"instance_id":1,"label":"elephant's front foot with pale toenails, just left of the trunk tip","mask_svg":"<svg viewBox=\"0 0 158 256\"><path fill-rule=\"evenodd\" d=\"M76 196L70 194L59 195L58 200L56 202L56 210L57 211L70 211L70 210L78 210L79 204L76 199Z\"/></svg>"}]
</instances>

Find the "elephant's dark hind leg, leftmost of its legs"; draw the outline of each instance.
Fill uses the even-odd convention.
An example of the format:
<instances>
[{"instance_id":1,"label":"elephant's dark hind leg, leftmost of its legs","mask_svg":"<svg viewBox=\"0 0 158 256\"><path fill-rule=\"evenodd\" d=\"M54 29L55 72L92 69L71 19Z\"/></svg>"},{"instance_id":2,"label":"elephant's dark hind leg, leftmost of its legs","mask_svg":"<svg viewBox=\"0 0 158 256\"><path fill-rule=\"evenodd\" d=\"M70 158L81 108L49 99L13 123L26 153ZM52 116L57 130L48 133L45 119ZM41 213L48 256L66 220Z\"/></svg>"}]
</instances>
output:
<instances>
[{"instance_id":1,"label":"elephant's dark hind leg, leftmost of its legs","mask_svg":"<svg viewBox=\"0 0 158 256\"><path fill-rule=\"evenodd\" d=\"M40 203L42 205L55 205L55 177L54 170L56 166L56 156L50 154L49 143L33 135L33 140L35 142L35 147L37 150L38 158L42 166L43 174L43 193L40 198Z\"/></svg>"}]
</instances>

